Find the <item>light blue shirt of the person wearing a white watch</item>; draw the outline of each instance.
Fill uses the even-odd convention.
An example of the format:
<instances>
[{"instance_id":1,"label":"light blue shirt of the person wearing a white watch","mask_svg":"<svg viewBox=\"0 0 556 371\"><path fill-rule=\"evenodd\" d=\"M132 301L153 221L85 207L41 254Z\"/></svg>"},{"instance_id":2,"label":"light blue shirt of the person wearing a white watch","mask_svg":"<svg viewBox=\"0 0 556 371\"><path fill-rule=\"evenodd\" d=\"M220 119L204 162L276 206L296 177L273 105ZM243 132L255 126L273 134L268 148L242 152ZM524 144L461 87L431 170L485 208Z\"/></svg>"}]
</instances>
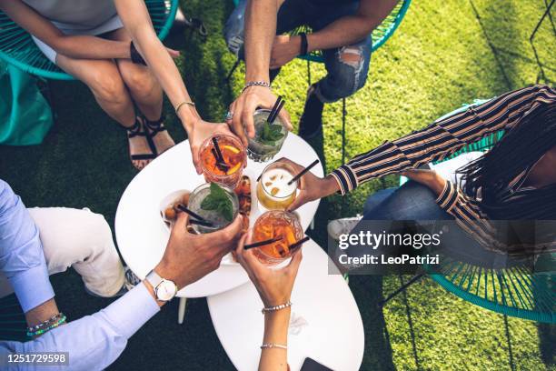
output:
<instances>
[{"instance_id":1,"label":"light blue shirt of the person wearing a white watch","mask_svg":"<svg viewBox=\"0 0 556 371\"><path fill-rule=\"evenodd\" d=\"M2 180L0 270L13 286L25 312L54 297L35 223L19 196ZM69 366L46 368L101 370L120 356L127 340L159 310L153 296L140 284L100 312L57 327L35 340L26 343L0 341L0 357L8 353L68 352ZM2 368L44 370L45 366Z\"/></svg>"}]
</instances>

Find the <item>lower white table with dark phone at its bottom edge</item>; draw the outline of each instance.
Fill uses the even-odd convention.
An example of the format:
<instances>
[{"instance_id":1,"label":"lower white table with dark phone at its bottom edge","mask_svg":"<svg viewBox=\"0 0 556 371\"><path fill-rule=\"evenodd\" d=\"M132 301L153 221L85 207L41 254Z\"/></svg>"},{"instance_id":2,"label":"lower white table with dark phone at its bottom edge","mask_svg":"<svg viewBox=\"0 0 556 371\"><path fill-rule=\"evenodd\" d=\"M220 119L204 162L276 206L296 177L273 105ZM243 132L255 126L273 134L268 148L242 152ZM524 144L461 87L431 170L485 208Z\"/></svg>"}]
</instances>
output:
<instances>
[{"instance_id":1,"label":"lower white table with dark phone at its bottom edge","mask_svg":"<svg viewBox=\"0 0 556 371\"><path fill-rule=\"evenodd\" d=\"M288 364L299 370L305 357L335 371L358 370L364 332L359 308L342 275L313 240L303 245L303 261L292 293ZM216 335L233 366L257 369L263 340L263 302L251 282L207 298Z\"/></svg>"}]
</instances>

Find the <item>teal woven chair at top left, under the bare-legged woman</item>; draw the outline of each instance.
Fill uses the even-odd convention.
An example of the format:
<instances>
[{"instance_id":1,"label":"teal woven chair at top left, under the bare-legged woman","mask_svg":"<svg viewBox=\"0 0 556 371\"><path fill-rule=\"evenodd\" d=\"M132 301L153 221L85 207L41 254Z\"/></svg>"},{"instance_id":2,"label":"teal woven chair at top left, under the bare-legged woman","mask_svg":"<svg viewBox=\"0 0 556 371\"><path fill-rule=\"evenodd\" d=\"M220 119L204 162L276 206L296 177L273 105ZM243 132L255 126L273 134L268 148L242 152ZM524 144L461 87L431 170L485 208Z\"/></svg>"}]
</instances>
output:
<instances>
[{"instance_id":1,"label":"teal woven chair at top left, under the bare-legged woman","mask_svg":"<svg viewBox=\"0 0 556 371\"><path fill-rule=\"evenodd\" d=\"M178 0L144 0L154 30L161 40L170 32ZM23 28L0 11L0 59L25 72L53 80L74 80L50 62Z\"/></svg>"}]
</instances>

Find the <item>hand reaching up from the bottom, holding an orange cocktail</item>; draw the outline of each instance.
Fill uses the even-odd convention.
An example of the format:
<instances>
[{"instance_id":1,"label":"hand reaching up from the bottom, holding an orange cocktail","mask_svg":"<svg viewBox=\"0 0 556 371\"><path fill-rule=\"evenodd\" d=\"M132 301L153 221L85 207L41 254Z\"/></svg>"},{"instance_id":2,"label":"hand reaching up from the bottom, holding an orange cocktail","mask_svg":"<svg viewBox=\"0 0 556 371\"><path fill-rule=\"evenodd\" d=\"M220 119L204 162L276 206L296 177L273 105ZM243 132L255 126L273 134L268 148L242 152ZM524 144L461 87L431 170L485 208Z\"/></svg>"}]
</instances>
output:
<instances>
[{"instance_id":1,"label":"hand reaching up from the bottom, holding an orange cocktail","mask_svg":"<svg viewBox=\"0 0 556 371\"><path fill-rule=\"evenodd\" d=\"M274 269L261 263L253 255L253 250L243 249L246 243L251 243L252 236L253 231L250 231L241 238L235 250L237 260L257 288L265 307L280 306L289 302L293 282L302 261L302 249L299 248L293 253L292 260L287 266Z\"/></svg>"}]
</instances>

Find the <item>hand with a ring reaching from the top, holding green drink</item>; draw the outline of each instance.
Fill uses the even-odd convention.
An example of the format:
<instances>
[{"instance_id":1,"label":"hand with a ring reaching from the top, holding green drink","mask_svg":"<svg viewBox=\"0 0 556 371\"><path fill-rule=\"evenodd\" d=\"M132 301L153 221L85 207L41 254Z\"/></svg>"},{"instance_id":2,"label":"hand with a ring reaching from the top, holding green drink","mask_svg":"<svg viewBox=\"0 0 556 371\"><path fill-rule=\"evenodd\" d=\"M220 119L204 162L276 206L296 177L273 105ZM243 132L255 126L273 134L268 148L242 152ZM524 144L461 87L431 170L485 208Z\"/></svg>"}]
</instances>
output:
<instances>
[{"instance_id":1,"label":"hand with a ring reaching from the top, holding green drink","mask_svg":"<svg viewBox=\"0 0 556 371\"><path fill-rule=\"evenodd\" d=\"M276 99L278 97L273 95L273 92L268 87L249 86L230 105L229 111L233 114L233 117L227 121L227 124L230 125L233 133L241 138L243 145L248 145L247 135L251 138L255 135L254 111L259 107L272 109ZM292 130L290 114L285 109L282 109L278 115L286 129Z\"/></svg>"}]
</instances>

